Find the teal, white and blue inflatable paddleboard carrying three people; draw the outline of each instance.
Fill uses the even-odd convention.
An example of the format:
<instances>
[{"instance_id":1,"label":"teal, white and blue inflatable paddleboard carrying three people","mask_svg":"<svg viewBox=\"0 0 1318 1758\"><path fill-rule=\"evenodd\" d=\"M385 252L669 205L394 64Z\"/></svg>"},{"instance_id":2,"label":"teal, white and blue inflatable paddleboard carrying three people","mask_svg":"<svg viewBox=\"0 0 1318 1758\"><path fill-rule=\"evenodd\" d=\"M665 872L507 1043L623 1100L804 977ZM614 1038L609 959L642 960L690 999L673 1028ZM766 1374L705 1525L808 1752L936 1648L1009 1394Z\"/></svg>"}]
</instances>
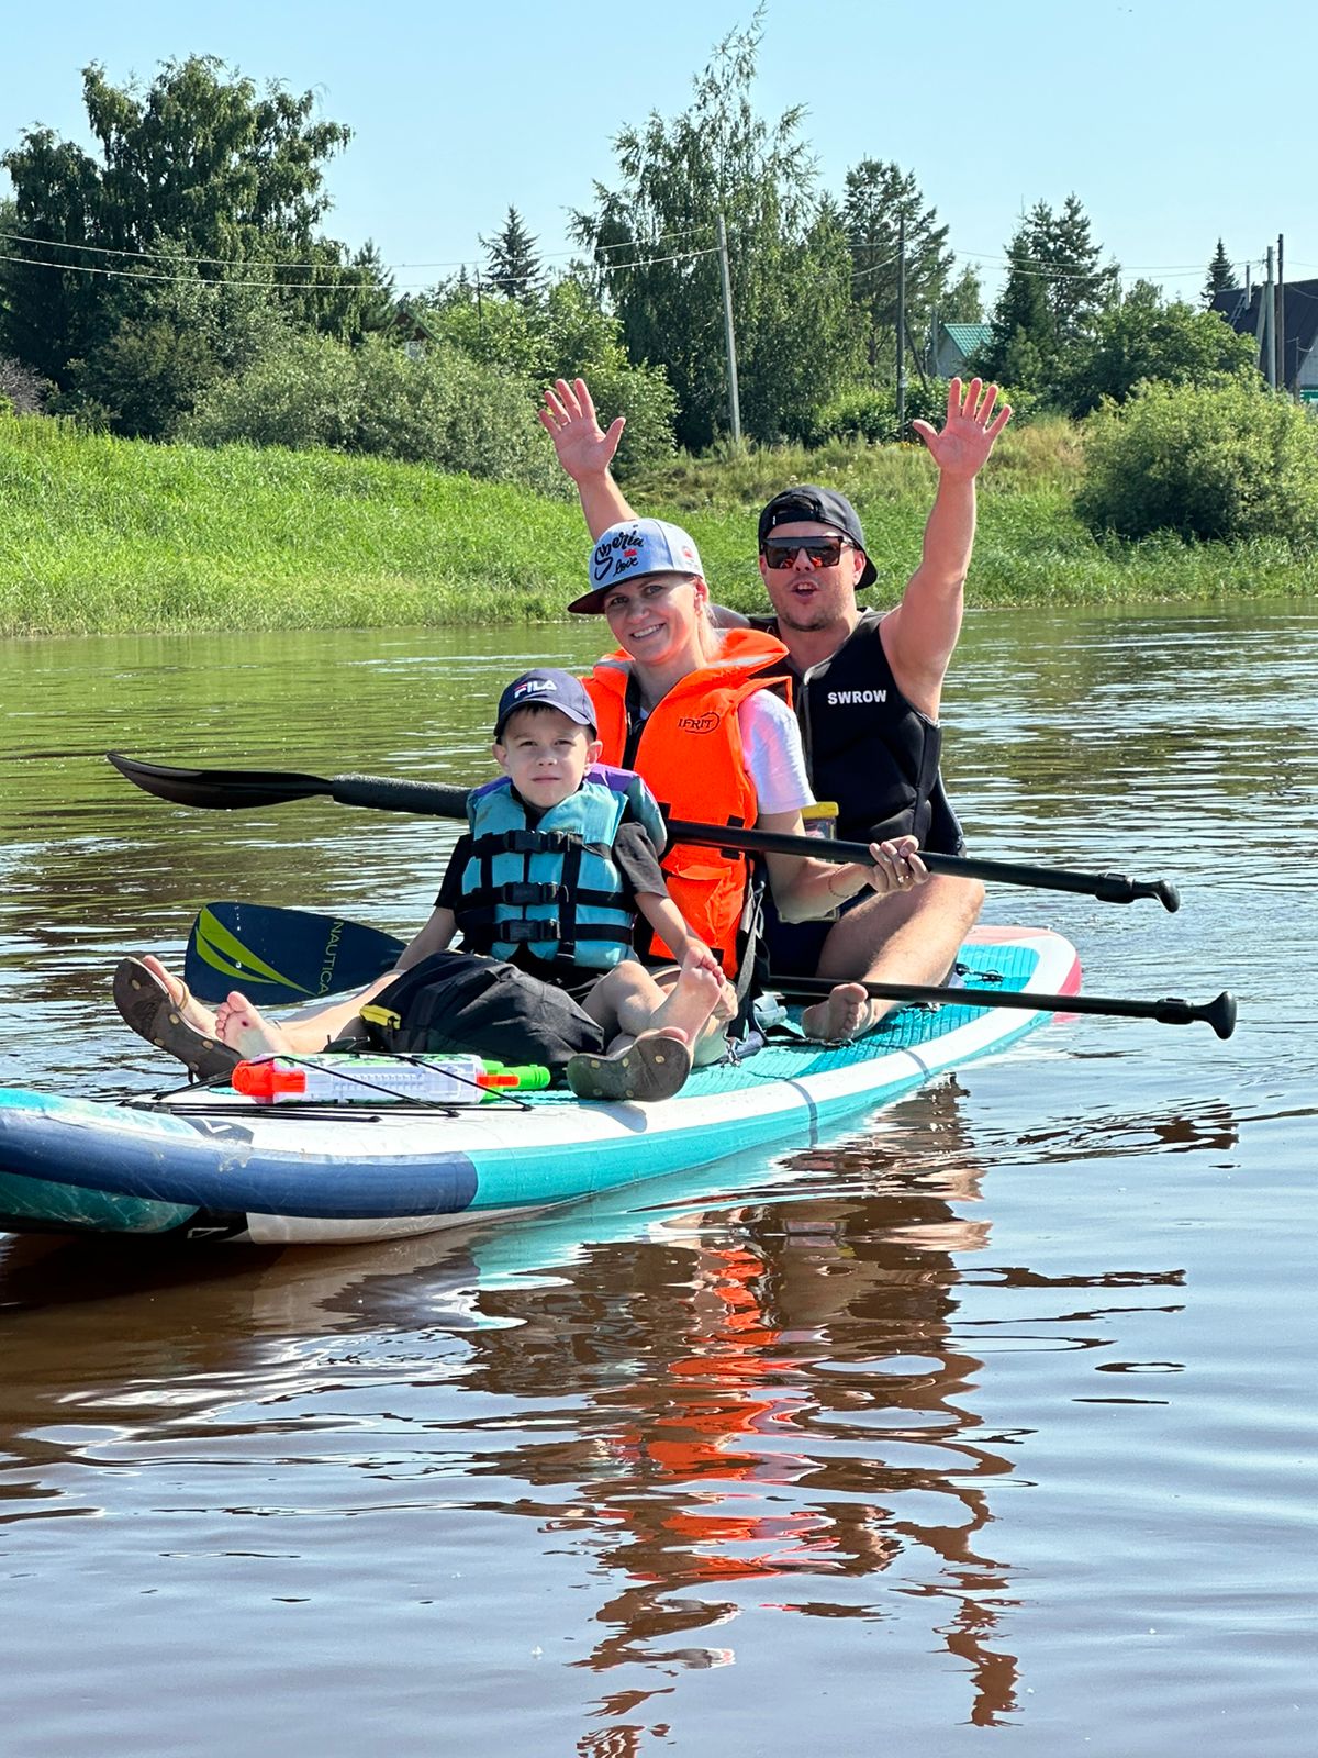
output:
<instances>
[{"instance_id":1,"label":"teal, white and blue inflatable paddleboard carrying three people","mask_svg":"<svg viewBox=\"0 0 1318 1758\"><path fill-rule=\"evenodd\" d=\"M1079 990L1075 949L1042 928L977 930L961 962L970 988ZM903 1007L854 1044L770 1042L645 1106L569 1092L308 1106L227 1086L118 1102L0 1088L0 1229L255 1243L429 1232L814 1141L1046 1018L961 1002ZM351 1071L353 1058L336 1067ZM376 1060L371 1079L381 1081Z\"/></svg>"}]
</instances>

